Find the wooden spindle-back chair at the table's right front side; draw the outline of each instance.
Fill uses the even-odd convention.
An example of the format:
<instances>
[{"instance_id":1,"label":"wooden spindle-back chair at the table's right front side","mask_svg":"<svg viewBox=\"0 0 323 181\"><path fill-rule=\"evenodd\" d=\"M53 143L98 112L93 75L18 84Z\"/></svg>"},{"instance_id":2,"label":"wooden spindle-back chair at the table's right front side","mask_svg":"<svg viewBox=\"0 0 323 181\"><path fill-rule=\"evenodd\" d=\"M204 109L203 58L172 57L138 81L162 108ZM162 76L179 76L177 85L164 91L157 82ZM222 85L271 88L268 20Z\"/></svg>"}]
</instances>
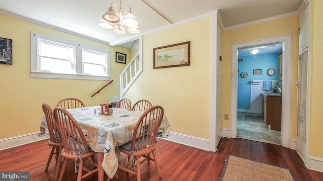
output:
<instances>
[{"instance_id":1,"label":"wooden spindle-back chair at the table's right front side","mask_svg":"<svg viewBox=\"0 0 323 181\"><path fill-rule=\"evenodd\" d=\"M141 180L140 177L140 164L145 162L147 159L155 162L157 172L161 178L161 172L156 157L157 147L157 131L163 120L164 109L160 106L153 106L145 111L137 122L131 142L118 147L118 155L121 152L126 153L132 157L125 164L120 164L118 168L137 175L137 180ZM152 155L152 157L150 156ZM140 157L145 159L140 161ZM135 166L136 162L136 166Z\"/></svg>"}]
</instances>

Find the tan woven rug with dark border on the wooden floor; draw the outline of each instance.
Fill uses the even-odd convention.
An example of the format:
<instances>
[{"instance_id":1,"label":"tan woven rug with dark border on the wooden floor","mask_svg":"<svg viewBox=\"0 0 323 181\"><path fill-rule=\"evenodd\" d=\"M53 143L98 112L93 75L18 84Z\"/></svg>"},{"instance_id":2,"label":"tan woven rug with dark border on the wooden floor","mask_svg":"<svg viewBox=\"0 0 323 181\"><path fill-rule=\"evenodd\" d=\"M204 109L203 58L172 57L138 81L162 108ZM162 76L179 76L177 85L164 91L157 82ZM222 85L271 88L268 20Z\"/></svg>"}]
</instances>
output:
<instances>
[{"instance_id":1,"label":"tan woven rug with dark border on the wooden floor","mask_svg":"<svg viewBox=\"0 0 323 181\"><path fill-rule=\"evenodd\" d=\"M228 155L221 179L226 180L296 180L292 170L280 166Z\"/></svg>"}]
</instances>

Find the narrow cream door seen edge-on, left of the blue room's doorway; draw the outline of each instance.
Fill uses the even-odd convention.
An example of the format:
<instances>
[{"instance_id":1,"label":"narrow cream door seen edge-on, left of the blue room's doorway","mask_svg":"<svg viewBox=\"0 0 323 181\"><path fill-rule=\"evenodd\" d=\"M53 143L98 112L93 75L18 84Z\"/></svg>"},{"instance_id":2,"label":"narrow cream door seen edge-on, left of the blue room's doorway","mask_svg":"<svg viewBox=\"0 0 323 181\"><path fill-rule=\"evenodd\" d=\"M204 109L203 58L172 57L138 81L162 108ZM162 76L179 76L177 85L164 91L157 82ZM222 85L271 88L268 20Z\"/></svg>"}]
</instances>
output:
<instances>
[{"instance_id":1,"label":"narrow cream door seen edge-on, left of the blue room's doorway","mask_svg":"<svg viewBox=\"0 0 323 181\"><path fill-rule=\"evenodd\" d=\"M216 121L216 146L219 145L219 142L222 137L222 61L219 60L220 56L222 57L223 52L223 42L222 42L222 32L218 27L218 59L217 59L217 121Z\"/></svg>"}]
</instances>

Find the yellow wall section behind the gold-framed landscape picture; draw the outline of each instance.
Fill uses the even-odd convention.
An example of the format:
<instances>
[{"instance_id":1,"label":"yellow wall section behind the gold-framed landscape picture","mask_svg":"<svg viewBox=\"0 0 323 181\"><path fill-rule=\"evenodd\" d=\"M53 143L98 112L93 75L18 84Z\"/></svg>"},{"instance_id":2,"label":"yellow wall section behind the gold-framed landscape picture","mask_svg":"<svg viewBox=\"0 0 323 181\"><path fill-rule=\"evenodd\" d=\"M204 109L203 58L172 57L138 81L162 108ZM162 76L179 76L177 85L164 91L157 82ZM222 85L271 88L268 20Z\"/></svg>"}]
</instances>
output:
<instances>
[{"instance_id":1,"label":"yellow wall section behind the gold-framed landscape picture","mask_svg":"<svg viewBox=\"0 0 323 181\"><path fill-rule=\"evenodd\" d=\"M143 36L143 72L125 94L165 109L172 131L209 139L210 17ZM203 28L201 28L203 27ZM153 69L153 48L190 41L190 66Z\"/></svg>"}]
</instances>

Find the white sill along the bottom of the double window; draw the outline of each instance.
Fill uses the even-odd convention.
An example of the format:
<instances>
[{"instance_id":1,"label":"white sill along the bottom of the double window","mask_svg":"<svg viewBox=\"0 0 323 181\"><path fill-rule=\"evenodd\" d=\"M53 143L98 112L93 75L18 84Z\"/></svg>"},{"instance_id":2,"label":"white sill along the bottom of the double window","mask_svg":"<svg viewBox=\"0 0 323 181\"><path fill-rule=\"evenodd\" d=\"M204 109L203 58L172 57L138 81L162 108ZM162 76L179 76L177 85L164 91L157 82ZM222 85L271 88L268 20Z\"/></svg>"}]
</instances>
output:
<instances>
[{"instance_id":1,"label":"white sill along the bottom of the double window","mask_svg":"<svg viewBox=\"0 0 323 181\"><path fill-rule=\"evenodd\" d=\"M30 77L31 78L81 79L81 80L110 80L110 76L76 75L76 74L44 73L44 72L30 72Z\"/></svg>"}]
</instances>

